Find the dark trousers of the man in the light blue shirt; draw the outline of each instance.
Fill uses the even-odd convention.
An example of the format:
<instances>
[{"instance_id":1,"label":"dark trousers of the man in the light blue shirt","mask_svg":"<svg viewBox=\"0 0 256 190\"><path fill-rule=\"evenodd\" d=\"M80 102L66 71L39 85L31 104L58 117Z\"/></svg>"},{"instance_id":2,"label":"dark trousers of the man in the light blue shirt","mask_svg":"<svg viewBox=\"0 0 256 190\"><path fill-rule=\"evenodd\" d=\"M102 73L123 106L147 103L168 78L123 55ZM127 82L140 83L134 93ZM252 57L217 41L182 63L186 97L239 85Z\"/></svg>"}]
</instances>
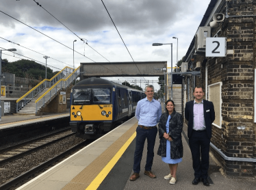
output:
<instances>
[{"instance_id":1,"label":"dark trousers of the man in the light blue shirt","mask_svg":"<svg viewBox=\"0 0 256 190\"><path fill-rule=\"evenodd\" d=\"M149 130L140 128L138 126L136 128L136 150L134 153L134 164L133 164L133 172L140 173L140 162L142 159L142 153L144 148L145 140L148 142L148 152L146 154L146 171L151 171L151 167L153 165L154 158L154 146L155 146L155 137L157 136L157 127L151 128Z\"/></svg>"}]
</instances>

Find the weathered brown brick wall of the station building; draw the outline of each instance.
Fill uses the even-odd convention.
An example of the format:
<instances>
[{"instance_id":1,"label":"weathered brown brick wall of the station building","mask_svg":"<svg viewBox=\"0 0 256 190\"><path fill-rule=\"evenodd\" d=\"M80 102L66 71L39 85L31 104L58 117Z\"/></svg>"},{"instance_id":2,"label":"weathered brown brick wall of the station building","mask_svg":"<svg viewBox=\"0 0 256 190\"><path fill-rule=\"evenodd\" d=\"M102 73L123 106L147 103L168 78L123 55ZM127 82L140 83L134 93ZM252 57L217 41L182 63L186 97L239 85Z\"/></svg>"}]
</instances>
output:
<instances>
[{"instance_id":1,"label":"weathered brown brick wall of the station building","mask_svg":"<svg viewBox=\"0 0 256 190\"><path fill-rule=\"evenodd\" d=\"M219 12L225 13L225 7ZM229 3L228 14L256 15L256 1L234 0ZM221 31L219 31L221 29ZM222 82L222 126L212 126L212 143L227 157L256 158L256 126L254 119L254 70L256 62L256 17L229 17L212 36L227 37L227 57L193 55L196 62L207 63L207 85ZM205 62L205 59L206 62ZM205 87L205 64L196 85ZM193 77L190 77L193 87ZM256 176L256 165L246 161L226 161L211 148L222 163L225 174L231 176Z\"/></svg>"}]
</instances>

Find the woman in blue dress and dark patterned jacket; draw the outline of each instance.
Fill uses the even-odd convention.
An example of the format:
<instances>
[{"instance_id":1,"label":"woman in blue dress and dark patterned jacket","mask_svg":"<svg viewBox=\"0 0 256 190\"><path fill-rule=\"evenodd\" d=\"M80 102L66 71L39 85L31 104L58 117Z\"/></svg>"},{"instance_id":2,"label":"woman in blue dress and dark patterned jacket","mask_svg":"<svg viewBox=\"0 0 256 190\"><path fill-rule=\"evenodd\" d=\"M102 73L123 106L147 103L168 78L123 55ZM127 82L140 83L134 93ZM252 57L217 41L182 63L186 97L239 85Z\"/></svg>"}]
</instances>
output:
<instances>
[{"instance_id":1,"label":"woman in blue dress and dark patterned jacket","mask_svg":"<svg viewBox=\"0 0 256 190\"><path fill-rule=\"evenodd\" d=\"M181 132L183 128L182 116L175 111L175 103L167 100L166 113L163 113L158 124L160 144L157 154L162 156L162 161L168 163L170 174L164 176L170 184L175 184L178 163L182 161L183 145Z\"/></svg>"}]
</instances>

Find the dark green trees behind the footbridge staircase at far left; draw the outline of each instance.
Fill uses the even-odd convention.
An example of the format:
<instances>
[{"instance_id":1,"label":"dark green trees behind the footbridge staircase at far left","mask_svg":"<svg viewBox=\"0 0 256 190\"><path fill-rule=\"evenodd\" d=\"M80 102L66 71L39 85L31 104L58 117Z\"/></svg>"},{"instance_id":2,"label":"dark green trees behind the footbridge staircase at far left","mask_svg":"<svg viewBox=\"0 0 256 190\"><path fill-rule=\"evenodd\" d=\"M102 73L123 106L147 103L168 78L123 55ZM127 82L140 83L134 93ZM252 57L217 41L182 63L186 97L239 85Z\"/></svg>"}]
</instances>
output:
<instances>
[{"instance_id":1,"label":"dark green trees behind the footbridge staircase at far left","mask_svg":"<svg viewBox=\"0 0 256 190\"><path fill-rule=\"evenodd\" d=\"M27 59L21 59L16 62L8 62L7 59L3 59L3 61L5 63L2 63L2 72L9 72L15 74L16 77L29 79L41 80L45 78L45 66L34 61ZM51 68L47 67L47 79L51 79L57 72L53 72Z\"/></svg>"}]
</instances>

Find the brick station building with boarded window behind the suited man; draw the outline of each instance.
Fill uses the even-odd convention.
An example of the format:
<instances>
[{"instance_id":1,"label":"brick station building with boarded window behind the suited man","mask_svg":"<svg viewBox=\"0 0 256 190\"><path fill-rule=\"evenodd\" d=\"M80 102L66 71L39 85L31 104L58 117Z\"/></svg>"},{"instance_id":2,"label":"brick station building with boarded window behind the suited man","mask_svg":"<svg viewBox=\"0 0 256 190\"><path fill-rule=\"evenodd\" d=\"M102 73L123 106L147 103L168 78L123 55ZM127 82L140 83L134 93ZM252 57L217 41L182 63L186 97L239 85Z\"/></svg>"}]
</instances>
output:
<instances>
[{"instance_id":1,"label":"brick station building with boarded window behind the suited man","mask_svg":"<svg viewBox=\"0 0 256 190\"><path fill-rule=\"evenodd\" d=\"M210 27L219 13L220 22ZM200 77L183 75L184 102L193 99L195 85L203 85L216 112L212 154L225 174L256 176L256 1L212 0L201 27L209 31L203 36L227 38L227 55L206 57L205 49L198 49L199 36L194 37L183 62L187 71L200 70Z\"/></svg>"}]
</instances>

